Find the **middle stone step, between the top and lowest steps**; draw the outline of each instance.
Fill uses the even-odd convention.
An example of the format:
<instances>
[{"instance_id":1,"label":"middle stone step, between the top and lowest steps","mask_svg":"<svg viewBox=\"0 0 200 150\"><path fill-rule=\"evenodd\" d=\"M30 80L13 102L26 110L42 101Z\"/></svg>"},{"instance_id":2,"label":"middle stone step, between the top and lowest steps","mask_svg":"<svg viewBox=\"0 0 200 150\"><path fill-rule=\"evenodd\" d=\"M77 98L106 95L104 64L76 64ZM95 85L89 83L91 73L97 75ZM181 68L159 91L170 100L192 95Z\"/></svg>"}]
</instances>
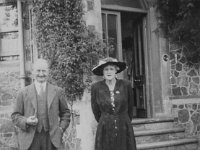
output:
<instances>
[{"instance_id":1,"label":"middle stone step, between the top and lowest steps","mask_svg":"<svg viewBox=\"0 0 200 150\"><path fill-rule=\"evenodd\" d=\"M135 131L136 143L152 143L185 138L185 129L171 128Z\"/></svg>"}]
</instances>

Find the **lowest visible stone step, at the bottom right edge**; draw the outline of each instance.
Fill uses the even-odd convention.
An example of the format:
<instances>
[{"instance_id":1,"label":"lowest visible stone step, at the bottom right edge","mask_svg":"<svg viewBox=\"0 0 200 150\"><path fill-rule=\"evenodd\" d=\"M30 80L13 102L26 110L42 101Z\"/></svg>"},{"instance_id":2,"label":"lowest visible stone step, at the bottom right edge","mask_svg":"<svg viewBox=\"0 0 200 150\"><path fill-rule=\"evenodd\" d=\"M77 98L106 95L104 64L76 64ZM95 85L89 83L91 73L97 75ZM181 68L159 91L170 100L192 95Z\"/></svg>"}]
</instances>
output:
<instances>
[{"instance_id":1,"label":"lowest visible stone step, at the bottom right edge","mask_svg":"<svg viewBox=\"0 0 200 150\"><path fill-rule=\"evenodd\" d=\"M137 150L197 150L196 138L137 144Z\"/></svg>"}]
</instances>

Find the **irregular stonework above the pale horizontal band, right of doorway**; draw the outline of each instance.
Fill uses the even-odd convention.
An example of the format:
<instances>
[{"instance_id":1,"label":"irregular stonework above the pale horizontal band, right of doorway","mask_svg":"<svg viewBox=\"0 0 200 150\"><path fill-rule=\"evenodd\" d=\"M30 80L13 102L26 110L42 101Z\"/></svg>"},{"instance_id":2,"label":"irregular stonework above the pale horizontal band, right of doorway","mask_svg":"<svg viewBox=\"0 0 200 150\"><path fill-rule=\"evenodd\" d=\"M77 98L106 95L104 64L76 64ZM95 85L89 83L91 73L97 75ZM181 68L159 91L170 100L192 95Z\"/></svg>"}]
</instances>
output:
<instances>
[{"instance_id":1,"label":"irregular stonework above the pale horizontal band, right of doorway","mask_svg":"<svg viewBox=\"0 0 200 150\"><path fill-rule=\"evenodd\" d=\"M185 50L185 47L170 44L172 99L200 96L199 64L188 62L183 55Z\"/></svg>"}]
</instances>

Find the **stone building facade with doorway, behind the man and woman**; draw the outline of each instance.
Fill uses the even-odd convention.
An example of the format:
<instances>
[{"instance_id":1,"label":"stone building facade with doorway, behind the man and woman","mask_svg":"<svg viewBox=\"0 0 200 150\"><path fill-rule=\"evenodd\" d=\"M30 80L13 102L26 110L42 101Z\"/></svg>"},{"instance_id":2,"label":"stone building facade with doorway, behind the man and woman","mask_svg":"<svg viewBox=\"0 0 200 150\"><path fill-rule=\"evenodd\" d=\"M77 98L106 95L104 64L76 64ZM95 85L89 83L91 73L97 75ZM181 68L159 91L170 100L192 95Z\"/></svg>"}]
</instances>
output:
<instances>
[{"instance_id":1,"label":"stone building facade with doorway, behind the man and woman","mask_svg":"<svg viewBox=\"0 0 200 150\"><path fill-rule=\"evenodd\" d=\"M24 3L24 2L23 2ZM158 29L155 0L83 0L86 25L90 30L109 36L105 27L116 36L116 57L125 61L128 69L120 78L132 82L135 92L136 120L145 118L174 118L175 126L186 129L189 136L200 134L200 71L199 64L191 65L183 55L185 47L168 42ZM23 10L29 11L27 5ZM37 48L31 34L31 14L23 16L25 84L31 82L31 67L37 58ZM113 22L109 23L109 19ZM114 25L113 25L113 24ZM113 25L113 26L112 26ZM115 30L114 30L115 29ZM20 59L0 61L0 149L17 149L17 135L11 123L12 104L20 87ZM90 120L91 132L86 133L91 114L90 93L75 104L74 118L66 132L65 146L70 150L85 150L88 134L90 145L95 135L96 122ZM82 108L82 109L81 109ZM84 124L84 127L82 127ZM87 137L87 136L86 136ZM89 149L88 149L89 150Z\"/></svg>"}]
</instances>

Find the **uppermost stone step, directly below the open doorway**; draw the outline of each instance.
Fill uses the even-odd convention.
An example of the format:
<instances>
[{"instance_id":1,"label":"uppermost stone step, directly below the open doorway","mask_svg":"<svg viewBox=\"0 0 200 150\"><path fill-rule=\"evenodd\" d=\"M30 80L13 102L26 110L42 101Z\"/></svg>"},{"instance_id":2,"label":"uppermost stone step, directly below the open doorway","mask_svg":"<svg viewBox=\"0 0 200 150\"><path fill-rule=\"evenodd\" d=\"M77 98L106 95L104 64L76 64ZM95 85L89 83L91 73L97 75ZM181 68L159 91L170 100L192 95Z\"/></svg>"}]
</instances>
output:
<instances>
[{"instance_id":1,"label":"uppermost stone step, directly below the open doorway","mask_svg":"<svg viewBox=\"0 0 200 150\"><path fill-rule=\"evenodd\" d=\"M174 127L174 118L133 119L132 125L134 131L169 129Z\"/></svg>"}]
</instances>

